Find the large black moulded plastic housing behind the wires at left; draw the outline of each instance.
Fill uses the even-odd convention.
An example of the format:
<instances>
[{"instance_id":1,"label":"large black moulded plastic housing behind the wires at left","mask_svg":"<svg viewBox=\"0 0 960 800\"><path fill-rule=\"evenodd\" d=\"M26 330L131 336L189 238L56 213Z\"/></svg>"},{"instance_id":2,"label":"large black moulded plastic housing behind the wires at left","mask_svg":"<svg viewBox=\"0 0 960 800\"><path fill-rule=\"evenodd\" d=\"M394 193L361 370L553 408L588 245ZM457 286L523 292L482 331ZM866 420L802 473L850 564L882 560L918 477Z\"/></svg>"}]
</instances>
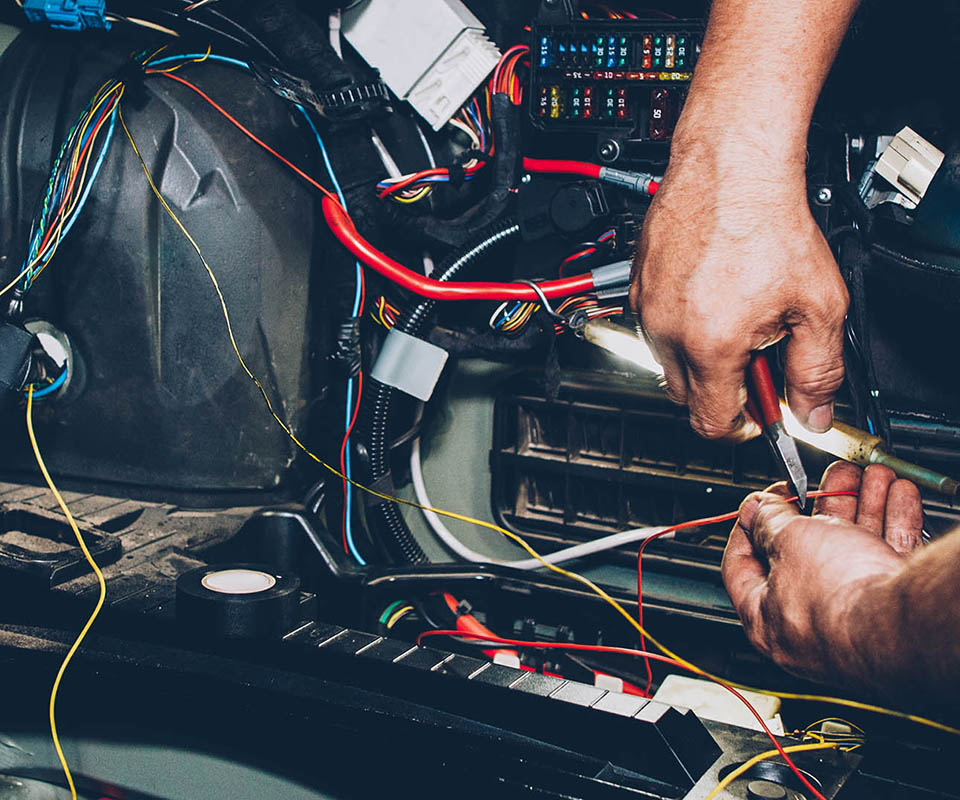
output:
<instances>
[{"instance_id":1,"label":"large black moulded plastic housing behind the wires at left","mask_svg":"<svg viewBox=\"0 0 960 800\"><path fill-rule=\"evenodd\" d=\"M0 59L3 282L19 271L66 131L135 47L116 34L30 30ZM315 194L195 93L160 76L138 86L137 73L123 100L127 125L216 274L247 364L299 429L311 387ZM295 127L291 106L253 77L213 62L176 74L316 172L315 142ZM196 504L283 485L295 447L241 369L210 277L152 195L119 123L24 316L66 332L85 367L67 402L36 412L55 473L79 488L127 484ZM36 469L23 428L20 413L0 418L8 473Z\"/></svg>"}]
</instances>

